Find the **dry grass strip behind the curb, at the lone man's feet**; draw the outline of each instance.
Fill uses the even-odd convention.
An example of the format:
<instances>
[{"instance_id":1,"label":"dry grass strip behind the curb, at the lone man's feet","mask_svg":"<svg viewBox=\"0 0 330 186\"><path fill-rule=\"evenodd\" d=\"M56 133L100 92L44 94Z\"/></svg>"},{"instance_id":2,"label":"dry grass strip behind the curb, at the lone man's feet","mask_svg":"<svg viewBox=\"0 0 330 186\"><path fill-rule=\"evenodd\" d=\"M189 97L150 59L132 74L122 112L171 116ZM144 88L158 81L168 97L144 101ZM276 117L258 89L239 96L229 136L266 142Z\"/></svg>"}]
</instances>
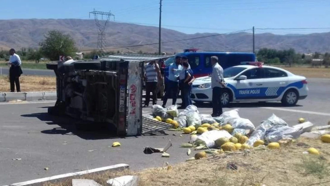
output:
<instances>
[{"instance_id":1,"label":"dry grass strip behind the curb, at the lone man's feet","mask_svg":"<svg viewBox=\"0 0 330 186\"><path fill-rule=\"evenodd\" d=\"M55 77L21 76L19 80L21 92L56 91ZM1 76L0 92L10 92L10 83L8 76Z\"/></svg>"}]
</instances>

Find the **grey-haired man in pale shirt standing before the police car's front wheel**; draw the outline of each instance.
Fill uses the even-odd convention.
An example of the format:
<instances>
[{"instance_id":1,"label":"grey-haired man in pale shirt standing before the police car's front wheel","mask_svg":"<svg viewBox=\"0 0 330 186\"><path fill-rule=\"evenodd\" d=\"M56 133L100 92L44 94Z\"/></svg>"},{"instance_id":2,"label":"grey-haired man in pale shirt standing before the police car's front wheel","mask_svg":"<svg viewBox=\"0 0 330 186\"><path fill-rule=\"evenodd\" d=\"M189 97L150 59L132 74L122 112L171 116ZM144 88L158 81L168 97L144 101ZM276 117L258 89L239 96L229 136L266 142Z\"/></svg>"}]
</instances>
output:
<instances>
[{"instance_id":1,"label":"grey-haired man in pale shirt standing before the police car's front wheel","mask_svg":"<svg viewBox=\"0 0 330 186\"><path fill-rule=\"evenodd\" d=\"M217 117L222 114L221 91L222 91L222 87L224 87L223 69L219 64L219 60L217 56L211 56L211 64L212 64L211 85L212 85L212 105L213 105L212 117Z\"/></svg>"}]
</instances>

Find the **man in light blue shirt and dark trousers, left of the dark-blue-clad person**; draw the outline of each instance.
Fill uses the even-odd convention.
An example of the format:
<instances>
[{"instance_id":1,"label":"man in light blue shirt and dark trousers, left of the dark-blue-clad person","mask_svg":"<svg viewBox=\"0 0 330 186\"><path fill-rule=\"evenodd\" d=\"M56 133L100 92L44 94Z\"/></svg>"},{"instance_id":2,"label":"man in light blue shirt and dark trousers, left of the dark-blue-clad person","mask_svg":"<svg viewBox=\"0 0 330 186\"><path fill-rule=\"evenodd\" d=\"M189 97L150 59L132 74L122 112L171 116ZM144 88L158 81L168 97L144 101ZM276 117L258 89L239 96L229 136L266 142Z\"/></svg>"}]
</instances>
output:
<instances>
[{"instance_id":1,"label":"man in light blue shirt and dark trousers, left of the dark-blue-clad person","mask_svg":"<svg viewBox=\"0 0 330 186\"><path fill-rule=\"evenodd\" d=\"M175 56L175 62L170 64L168 68L168 81L166 82L166 90L163 98L163 107L166 106L167 99L172 97L172 105L177 104L177 96L179 89L179 73L182 70L181 57Z\"/></svg>"}]
</instances>

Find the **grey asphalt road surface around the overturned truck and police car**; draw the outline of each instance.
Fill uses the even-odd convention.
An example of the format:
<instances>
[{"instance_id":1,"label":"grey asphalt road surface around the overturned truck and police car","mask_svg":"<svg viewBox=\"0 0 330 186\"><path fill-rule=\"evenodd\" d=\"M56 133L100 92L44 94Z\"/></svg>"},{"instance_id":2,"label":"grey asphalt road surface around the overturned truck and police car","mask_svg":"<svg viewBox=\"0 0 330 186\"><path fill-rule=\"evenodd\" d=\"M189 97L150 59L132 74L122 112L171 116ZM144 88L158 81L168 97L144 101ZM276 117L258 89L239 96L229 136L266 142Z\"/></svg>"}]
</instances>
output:
<instances>
[{"instance_id":1,"label":"grey asphalt road surface around the overturned truck and police car","mask_svg":"<svg viewBox=\"0 0 330 186\"><path fill-rule=\"evenodd\" d=\"M289 125L297 124L300 117L317 126L327 125L330 120L330 80L310 79L308 86L308 97L300 100L296 107L282 107L280 103L233 103L232 108L224 108L224 111L239 108L240 116L250 119L255 126L273 113ZM167 132L169 135L117 138L96 129L77 131L74 120L47 115L47 107L53 105L54 102L0 103L0 185L119 163L129 164L131 169L138 170L159 167L165 162L179 163L189 158L187 148L178 147L180 143L188 142L189 135L180 137L180 133L174 136L173 132ZM211 114L211 105L201 105L199 111ZM148 114L151 108L144 108L143 112ZM173 143L168 150L170 158L162 158L160 153L143 153L144 147L161 148L169 139ZM114 141L119 141L122 146L109 147ZM13 160L15 158L21 160ZM49 167L49 170L44 170L44 167Z\"/></svg>"}]
</instances>

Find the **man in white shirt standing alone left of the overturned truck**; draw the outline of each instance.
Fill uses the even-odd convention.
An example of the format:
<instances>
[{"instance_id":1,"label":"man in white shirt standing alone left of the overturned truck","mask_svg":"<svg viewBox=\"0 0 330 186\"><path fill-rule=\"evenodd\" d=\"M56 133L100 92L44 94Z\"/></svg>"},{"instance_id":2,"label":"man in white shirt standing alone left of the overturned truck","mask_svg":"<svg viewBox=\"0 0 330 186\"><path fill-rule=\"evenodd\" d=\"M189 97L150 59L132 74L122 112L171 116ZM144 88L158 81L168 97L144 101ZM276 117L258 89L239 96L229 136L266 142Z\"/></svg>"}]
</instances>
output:
<instances>
[{"instance_id":1,"label":"man in white shirt standing alone left of the overturned truck","mask_svg":"<svg viewBox=\"0 0 330 186\"><path fill-rule=\"evenodd\" d=\"M20 84L19 84L19 77L21 76L22 69L21 69L21 60L20 57L16 54L15 49L9 50L10 58L9 62L7 63L10 65L9 68L9 81L10 81L10 92L15 92L15 84L16 84L16 91L20 92Z\"/></svg>"}]
</instances>

